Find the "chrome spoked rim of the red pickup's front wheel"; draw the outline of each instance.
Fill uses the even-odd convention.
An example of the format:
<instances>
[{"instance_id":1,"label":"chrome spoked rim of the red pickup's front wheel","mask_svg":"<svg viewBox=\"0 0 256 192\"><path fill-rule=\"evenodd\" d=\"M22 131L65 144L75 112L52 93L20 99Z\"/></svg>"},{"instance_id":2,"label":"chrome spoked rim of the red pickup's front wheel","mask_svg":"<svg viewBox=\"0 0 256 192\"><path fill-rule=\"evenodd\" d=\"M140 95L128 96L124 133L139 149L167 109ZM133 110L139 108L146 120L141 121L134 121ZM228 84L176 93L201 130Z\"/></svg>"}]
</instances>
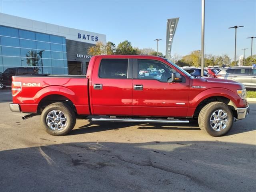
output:
<instances>
[{"instance_id":1,"label":"chrome spoked rim of the red pickup's front wheel","mask_svg":"<svg viewBox=\"0 0 256 192\"><path fill-rule=\"evenodd\" d=\"M226 111L219 109L212 113L210 125L214 131L221 131L228 125L228 114Z\"/></svg>"}]
</instances>

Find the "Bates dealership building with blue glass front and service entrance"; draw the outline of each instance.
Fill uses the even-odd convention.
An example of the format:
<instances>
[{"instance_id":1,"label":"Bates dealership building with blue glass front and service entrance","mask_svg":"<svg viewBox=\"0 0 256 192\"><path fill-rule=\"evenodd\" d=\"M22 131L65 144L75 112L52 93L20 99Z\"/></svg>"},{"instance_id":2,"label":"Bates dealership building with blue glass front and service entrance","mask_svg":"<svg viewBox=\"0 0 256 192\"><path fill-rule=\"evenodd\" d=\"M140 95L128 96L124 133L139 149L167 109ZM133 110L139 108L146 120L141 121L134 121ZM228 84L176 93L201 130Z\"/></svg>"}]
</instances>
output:
<instances>
[{"instance_id":1,"label":"Bates dealership building with blue glass front and service entrance","mask_svg":"<svg viewBox=\"0 0 256 192\"><path fill-rule=\"evenodd\" d=\"M0 13L0 72L32 67L42 74L86 74L90 47L106 35Z\"/></svg>"}]
</instances>

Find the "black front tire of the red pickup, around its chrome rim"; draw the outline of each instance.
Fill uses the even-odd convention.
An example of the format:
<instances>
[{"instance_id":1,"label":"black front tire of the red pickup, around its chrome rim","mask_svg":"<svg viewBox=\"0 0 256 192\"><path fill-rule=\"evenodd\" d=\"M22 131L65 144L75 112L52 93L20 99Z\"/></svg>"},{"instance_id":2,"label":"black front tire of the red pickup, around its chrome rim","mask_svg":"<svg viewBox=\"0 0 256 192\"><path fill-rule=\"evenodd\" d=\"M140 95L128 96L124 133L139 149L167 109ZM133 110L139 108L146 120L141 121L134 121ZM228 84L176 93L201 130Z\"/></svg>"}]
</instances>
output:
<instances>
[{"instance_id":1,"label":"black front tire of the red pickup, around its chrome rim","mask_svg":"<svg viewBox=\"0 0 256 192\"><path fill-rule=\"evenodd\" d=\"M217 130L214 130L214 125L216 123L211 124L210 120L214 120L215 118L212 116L217 110L222 110L226 112L227 118L224 118L223 120L226 122L226 124L221 124L226 125L224 129L222 129L220 126L217 126ZM217 112L218 113L218 112ZM220 114L224 114L221 113ZM216 113L215 113L216 115ZM219 120L219 118L217 118ZM222 119L220 119L220 122L224 122ZM222 102L211 102L204 106L202 110L199 113L198 116L198 124L201 130L204 132L208 133L211 136L214 137L219 137L225 135L231 128L234 122L234 116L230 108L228 107L227 104L222 103ZM212 126L214 128L212 128ZM223 126L224 127L224 126Z\"/></svg>"}]
</instances>

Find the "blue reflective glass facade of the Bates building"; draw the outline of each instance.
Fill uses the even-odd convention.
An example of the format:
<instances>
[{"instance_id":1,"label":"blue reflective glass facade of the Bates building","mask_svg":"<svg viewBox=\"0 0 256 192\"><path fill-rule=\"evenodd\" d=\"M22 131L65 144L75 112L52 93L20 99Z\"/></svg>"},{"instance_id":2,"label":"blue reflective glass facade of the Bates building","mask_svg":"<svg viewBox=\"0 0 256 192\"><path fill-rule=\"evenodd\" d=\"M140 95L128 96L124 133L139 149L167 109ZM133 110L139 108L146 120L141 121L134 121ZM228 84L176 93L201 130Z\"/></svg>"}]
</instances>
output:
<instances>
[{"instance_id":1,"label":"blue reflective glass facade of the Bates building","mask_svg":"<svg viewBox=\"0 0 256 192\"><path fill-rule=\"evenodd\" d=\"M0 72L17 66L39 74L68 74L66 38L0 26Z\"/></svg>"}]
</instances>

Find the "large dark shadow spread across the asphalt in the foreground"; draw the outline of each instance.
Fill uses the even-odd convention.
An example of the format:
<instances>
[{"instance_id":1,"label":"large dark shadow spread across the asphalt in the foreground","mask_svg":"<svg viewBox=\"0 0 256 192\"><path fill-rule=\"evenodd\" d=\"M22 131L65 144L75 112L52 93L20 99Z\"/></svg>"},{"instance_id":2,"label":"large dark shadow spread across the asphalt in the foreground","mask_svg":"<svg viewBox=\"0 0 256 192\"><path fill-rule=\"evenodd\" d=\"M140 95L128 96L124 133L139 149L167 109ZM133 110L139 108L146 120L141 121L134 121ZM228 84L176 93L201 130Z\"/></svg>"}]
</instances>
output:
<instances>
[{"instance_id":1,"label":"large dark shadow spread across the asphalt in the foreground","mask_svg":"<svg viewBox=\"0 0 256 192\"><path fill-rule=\"evenodd\" d=\"M254 145L51 140L33 145L0 152L0 191L255 190Z\"/></svg>"}]
</instances>

